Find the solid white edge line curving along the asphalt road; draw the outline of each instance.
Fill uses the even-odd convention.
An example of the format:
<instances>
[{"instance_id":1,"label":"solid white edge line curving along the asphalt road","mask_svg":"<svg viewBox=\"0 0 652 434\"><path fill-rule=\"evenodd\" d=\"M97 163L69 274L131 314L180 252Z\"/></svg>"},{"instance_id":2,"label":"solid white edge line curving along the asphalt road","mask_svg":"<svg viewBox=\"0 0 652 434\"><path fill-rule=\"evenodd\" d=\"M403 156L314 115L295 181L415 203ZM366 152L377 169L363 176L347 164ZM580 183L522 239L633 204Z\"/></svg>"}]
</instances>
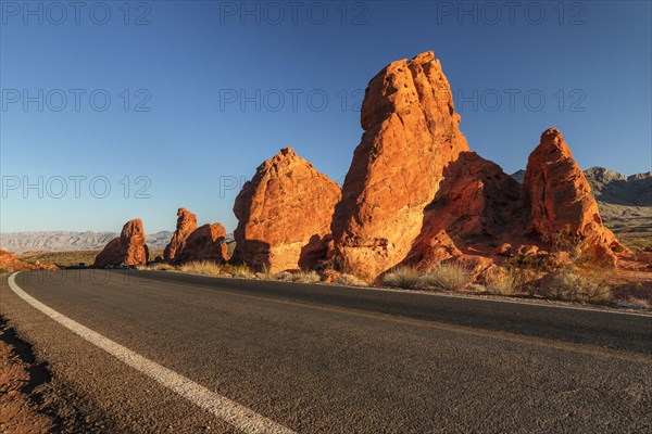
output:
<instances>
[{"instance_id":1,"label":"solid white edge line curving along the asphalt road","mask_svg":"<svg viewBox=\"0 0 652 434\"><path fill-rule=\"evenodd\" d=\"M95 346L102 348L113 357L117 358L125 365L136 369L145 375L155 380L164 387L176 392L192 404L203 408L215 414L217 418L230 423L238 430L244 433L273 433L273 434L296 434L292 430L283 426L255 411L235 403L227 397L209 391L202 385L195 383L192 380L180 375L150 359L134 353L108 337L73 321L66 316L46 306L38 299L34 298L23 291L15 282L14 272L9 278L9 288L25 302L40 310L61 326L73 331Z\"/></svg>"}]
</instances>

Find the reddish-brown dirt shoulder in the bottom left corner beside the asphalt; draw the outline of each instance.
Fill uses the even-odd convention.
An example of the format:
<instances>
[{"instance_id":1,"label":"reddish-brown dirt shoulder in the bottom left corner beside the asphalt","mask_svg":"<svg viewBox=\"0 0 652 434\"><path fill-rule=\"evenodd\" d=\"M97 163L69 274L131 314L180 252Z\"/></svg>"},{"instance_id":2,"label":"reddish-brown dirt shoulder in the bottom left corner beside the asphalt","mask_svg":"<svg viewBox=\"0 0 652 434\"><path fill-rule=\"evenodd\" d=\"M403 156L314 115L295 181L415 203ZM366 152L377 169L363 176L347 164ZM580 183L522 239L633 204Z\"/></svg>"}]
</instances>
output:
<instances>
[{"instance_id":1,"label":"reddish-brown dirt shoulder in the bottom left corner beside the asphalt","mask_svg":"<svg viewBox=\"0 0 652 434\"><path fill-rule=\"evenodd\" d=\"M0 433L80 433L104 431L88 419L77 399L52 381L45 362L0 316Z\"/></svg>"}]
</instances>

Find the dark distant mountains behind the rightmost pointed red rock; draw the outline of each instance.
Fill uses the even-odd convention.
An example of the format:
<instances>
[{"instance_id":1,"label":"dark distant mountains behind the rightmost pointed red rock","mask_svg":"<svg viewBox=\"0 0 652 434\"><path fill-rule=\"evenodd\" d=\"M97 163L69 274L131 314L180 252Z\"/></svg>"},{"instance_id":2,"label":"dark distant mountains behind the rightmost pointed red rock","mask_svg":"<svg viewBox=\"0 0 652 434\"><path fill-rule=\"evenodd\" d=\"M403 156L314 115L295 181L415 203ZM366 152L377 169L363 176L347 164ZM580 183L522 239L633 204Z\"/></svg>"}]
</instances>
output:
<instances>
[{"instance_id":1,"label":"dark distant mountains behind the rightmost pointed red rock","mask_svg":"<svg viewBox=\"0 0 652 434\"><path fill-rule=\"evenodd\" d=\"M604 167L584 171L604 225L616 233L652 232L652 171L629 177ZM512 174L523 182L525 170Z\"/></svg>"}]
</instances>

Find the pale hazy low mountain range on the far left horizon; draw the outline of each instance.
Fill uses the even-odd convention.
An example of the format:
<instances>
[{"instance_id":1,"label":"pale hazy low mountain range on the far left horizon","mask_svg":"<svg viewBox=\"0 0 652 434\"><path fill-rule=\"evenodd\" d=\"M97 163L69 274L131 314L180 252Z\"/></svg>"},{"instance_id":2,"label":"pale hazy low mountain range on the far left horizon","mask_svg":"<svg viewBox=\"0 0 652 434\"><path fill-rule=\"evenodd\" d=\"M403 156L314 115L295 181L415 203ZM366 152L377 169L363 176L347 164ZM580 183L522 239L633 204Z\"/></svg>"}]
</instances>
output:
<instances>
[{"instance_id":1,"label":"pale hazy low mountain range on the far left horizon","mask_svg":"<svg viewBox=\"0 0 652 434\"><path fill-rule=\"evenodd\" d=\"M109 241L118 235L116 232L90 231L3 232L0 233L0 248L14 253L101 251ZM150 250L162 251L171 238L170 231L150 233L147 235L147 245Z\"/></svg>"}]
</instances>

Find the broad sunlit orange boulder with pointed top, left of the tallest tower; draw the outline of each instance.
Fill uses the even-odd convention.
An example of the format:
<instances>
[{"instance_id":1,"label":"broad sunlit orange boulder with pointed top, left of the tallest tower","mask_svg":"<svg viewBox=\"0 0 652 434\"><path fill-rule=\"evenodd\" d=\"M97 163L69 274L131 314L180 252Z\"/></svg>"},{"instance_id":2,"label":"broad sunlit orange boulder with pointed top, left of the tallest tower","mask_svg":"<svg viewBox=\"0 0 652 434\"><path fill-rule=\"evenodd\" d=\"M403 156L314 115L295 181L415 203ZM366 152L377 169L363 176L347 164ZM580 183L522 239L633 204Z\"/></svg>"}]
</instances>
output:
<instances>
[{"instance_id":1,"label":"broad sunlit orange boulder with pointed top, left of the tallest tower","mask_svg":"<svg viewBox=\"0 0 652 434\"><path fill-rule=\"evenodd\" d=\"M284 148L236 197L235 261L273 272L312 267L325 255L340 196L337 183Z\"/></svg>"}]
</instances>

